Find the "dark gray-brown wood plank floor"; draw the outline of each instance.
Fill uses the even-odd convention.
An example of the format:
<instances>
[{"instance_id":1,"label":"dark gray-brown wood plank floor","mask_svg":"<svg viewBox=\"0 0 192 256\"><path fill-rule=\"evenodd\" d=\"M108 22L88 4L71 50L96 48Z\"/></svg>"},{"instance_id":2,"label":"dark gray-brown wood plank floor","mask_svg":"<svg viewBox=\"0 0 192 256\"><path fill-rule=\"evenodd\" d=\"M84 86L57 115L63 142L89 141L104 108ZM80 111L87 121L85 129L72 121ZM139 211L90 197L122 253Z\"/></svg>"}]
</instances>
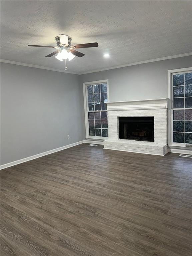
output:
<instances>
[{"instance_id":1,"label":"dark gray-brown wood plank floor","mask_svg":"<svg viewBox=\"0 0 192 256\"><path fill-rule=\"evenodd\" d=\"M191 256L192 159L81 144L1 170L1 256Z\"/></svg>"}]
</instances>

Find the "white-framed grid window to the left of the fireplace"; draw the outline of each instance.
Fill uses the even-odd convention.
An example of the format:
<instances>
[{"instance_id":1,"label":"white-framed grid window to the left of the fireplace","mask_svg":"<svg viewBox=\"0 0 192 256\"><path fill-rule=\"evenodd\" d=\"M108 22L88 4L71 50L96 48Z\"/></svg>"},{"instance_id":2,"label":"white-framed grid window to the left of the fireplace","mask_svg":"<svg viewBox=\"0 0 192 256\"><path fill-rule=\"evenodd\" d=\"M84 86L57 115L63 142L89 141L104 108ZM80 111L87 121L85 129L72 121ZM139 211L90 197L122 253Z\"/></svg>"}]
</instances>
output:
<instances>
[{"instance_id":1,"label":"white-framed grid window to the left of the fireplace","mask_svg":"<svg viewBox=\"0 0 192 256\"><path fill-rule=\"evenodd\" d=\"M108 80L83 83L86 137L108 138L107 104Z\"/></svg>"}]
</instances>

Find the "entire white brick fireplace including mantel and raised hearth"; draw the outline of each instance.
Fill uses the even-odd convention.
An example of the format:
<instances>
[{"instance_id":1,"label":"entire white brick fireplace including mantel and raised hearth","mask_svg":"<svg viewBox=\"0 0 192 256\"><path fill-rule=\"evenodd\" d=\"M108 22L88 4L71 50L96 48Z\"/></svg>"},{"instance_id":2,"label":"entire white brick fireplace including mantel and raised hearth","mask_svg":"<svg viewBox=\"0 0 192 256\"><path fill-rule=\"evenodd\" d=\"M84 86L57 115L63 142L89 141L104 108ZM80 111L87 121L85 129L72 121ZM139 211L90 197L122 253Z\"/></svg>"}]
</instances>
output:
<instances>
[{"instance_id":1,"label":"entire white brick fireplace including mantel and raised hearth","mask_svg":"<svg viewBox=\"0 0 192 256\"><path fill-rule=\"evenodd\" d=\"M107 110L109 139L104 141L105 149L153 155L167 153L167 99L108 102ZM139 124L144 122L144 118L147 122L150 119L154 120L153 140L147 140L149 137L147 124L141 128L141 125L133 126L129 122L125 126L128 136L122 137L121 120L126 120L125 117L130 117L127 119L131 122L138 119ZM133 132L130 131L131 125L135 127Z\"/></svg>"}]
</instances>

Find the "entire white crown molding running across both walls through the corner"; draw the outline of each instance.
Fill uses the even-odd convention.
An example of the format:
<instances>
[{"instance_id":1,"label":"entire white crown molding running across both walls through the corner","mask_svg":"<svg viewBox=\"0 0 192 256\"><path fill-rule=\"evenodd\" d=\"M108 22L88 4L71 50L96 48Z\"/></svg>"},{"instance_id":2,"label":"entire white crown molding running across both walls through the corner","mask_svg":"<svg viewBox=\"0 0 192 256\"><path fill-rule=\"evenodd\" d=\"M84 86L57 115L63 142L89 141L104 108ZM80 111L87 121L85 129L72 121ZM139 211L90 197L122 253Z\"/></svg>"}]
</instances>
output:
<instances>
[{"instance_id":1,"label":"entire white crown molding running across both walls through the corner","mask_svg":"<svg viewBox=\"0 0 192 256\"><path fill-rule=\"evenodd\" d=\"M49 68L49 67L38 66L38 65L28 64L28 63L16 62L16 61L12 61L12 60L0 59L0 62L14 64L14 65L20 65L20 66L26 66L26 67L31 67L31 68L47 69L47 70L56 71L56 72L62 72L62 73L69 73L69 74L75 74L75 75L84 75L84 74L95 73L95 72L100 72L100 71L105 71L105 70L110 70L110 69L124 68L124 67L129 67L129 66L149 63L149 62L155 62L155 61L161 61L161 60L169 60L169 59L186 57L186 56L191 56L191 55L192 55L192 52L188 52L188 53L183 53L183 54L178 54L178 55L173 55L173 56L167 56L167 57L151 59L151 60L143 60L143 61L138 61L138 62L132 62L132 63L129 63L129 64L114 66L114 67L110 67L110 68L95 69L95 70L85 71L85 72L65 71L65 70L62 70L62 69Z\"/></svg>"}]
</instances>

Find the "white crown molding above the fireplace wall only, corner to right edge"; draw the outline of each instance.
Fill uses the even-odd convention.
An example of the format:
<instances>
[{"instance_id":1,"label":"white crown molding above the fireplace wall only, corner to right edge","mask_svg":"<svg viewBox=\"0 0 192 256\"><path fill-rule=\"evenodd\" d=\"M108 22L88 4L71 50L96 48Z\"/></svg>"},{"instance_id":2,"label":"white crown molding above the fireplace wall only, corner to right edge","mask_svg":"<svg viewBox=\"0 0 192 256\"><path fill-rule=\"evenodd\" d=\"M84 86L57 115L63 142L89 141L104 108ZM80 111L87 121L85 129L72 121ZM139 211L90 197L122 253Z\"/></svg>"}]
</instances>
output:
<instances>
[{"instance_id":1,"label":"white crown molding above the fireplace wall only, corner to right edge","mask_svg":"<svg viewBox=\"0 0 192 256\"><path fill-rule=\"evenodd\" d=\"M100 72L100 71L105 71L105 70L110 70L110 69L115 69L115 68L124 68L124 67L128 67L128 66L134 66L134 65L139 65L139 64L149 63L149 62L186 57L186 56L191 56L191 55L192 55L192 52L188 52L188 53L183 53L183 54L178 54L178 55L173 55L173 56L167 56L167 57L162 57L162 58L157 58L157 59L143 60L143 61L138 61L138 62L132 62L132 63L129 63L129 64L114 66L114 67L110 67L110 68L102 68L102 69L95 69L95 70L92 70L92 71L81 72L81 73L79 73L79 75L95 73L95 72Z\"/></svg>"}]
</instances>

